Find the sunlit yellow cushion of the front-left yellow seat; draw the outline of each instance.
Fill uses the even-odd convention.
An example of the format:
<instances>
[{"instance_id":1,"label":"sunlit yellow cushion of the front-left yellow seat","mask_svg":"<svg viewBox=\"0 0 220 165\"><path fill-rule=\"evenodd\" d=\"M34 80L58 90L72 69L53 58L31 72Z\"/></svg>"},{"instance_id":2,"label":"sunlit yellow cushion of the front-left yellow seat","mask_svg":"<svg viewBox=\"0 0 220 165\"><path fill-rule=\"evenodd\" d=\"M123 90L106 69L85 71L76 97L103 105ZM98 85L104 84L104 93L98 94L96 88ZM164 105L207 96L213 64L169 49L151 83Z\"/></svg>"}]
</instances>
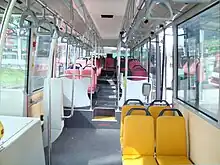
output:
<instances>
[{"instance_id":1,"label":"sunlit yellow cushion of the front-left yellow seat","mask_svg":"<svg viewBox=\"0 0 220 165\"><path fill-rule=\"evenodd\" d=\"M129 157L123 156L123 165L157 165L153 156Z\"/></svg>"}]
</instances>

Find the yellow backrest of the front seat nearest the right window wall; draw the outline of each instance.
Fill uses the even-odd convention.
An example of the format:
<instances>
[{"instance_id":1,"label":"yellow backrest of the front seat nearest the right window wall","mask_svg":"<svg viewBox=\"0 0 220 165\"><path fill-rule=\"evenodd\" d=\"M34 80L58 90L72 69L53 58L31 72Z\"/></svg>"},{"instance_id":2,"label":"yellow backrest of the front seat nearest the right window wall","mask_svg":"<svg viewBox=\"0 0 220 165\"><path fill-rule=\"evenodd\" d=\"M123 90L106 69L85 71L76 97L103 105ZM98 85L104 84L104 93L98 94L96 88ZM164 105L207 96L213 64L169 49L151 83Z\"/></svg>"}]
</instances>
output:
<instances>
[{"instance_id":1,"label":"yellow backrest of the front seat nearest the right window wall","mask_svg":"<svg viewBox=\"0 0 220 165\"><path fill-rule=\"evenodd\" d=\"M162 116L157 118L157 156L187 156L186 126L182 116Z\"/></svg>"}]
</instances>

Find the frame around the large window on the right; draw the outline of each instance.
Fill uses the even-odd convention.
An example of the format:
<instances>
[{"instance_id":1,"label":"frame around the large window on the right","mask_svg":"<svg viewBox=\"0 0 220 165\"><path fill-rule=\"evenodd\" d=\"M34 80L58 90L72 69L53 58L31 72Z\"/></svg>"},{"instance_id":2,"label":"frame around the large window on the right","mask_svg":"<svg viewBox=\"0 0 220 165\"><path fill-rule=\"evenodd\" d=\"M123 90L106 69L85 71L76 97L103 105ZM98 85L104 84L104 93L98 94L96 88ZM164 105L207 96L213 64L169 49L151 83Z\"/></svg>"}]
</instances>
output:
<instances>
[{"instance_id":1,"label":"frame around the large window on the right","mask_svg":"<svg viewBox=\"0 0 220 165\"><path fill-rule=\"evenodd\" d=\"M209 123L213 124L217 128L220 128L220 110L218 111L218 114L216 115L216 118L212 117L211 115L207 114L202 108L196 108L193 105L189 104L188 102L182 100L181 98L178 98L178 27L180 24L183 24L184 22L200 15L201 13L209 10L210 8L219 5L220 2L217 0L212 0L209 4L200 4L196 5L193 8L191 8L187 13L181 15L173 22L173 34L174 34L174 71L173 75L175 78L174 81L174 103L177 102L178 104L183 105L184 107L187 107L190 111L195 113L196 115L200 116L201 118L205 119ZM220 93L220 88L219 88ZM219 95L219 107L220 107L220 95Z\"/></svg>"}]
</instances>

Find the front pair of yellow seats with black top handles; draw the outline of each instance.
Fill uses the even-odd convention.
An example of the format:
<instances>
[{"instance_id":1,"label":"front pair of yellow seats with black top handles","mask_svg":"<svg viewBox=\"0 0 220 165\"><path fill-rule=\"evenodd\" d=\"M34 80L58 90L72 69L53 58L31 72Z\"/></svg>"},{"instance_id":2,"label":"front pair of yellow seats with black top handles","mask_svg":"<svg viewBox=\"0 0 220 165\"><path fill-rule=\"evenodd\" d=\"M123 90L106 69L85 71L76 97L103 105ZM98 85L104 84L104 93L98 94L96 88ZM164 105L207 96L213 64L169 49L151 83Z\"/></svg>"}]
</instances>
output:
<instances>
[{"instance_id":1,"label":"front pair of yellow seats with black top handles","mask_svg":"<svg viewBox=\"0 0 220 165\"><path fill-rule=\"evenodd\" d=\"M142 111L142 115L133 115L135 111ZM166 112L177 112L178 116L167 116ZM128 158L137 159L151 156L151 163L155 151L156 130L156 156L160 165L191 165L187 159L187 143L185 119L177 109L163 109L156 119L157 126L154 128L154 118L145 108L130 109L124 119L123 160ZM132 162L132 161L131 161ZM126 165L129 163L125 163ZM131 164L131 163L130 163ZM140 165L144 165L140 163Z\"/></svg>"}]
</instances>

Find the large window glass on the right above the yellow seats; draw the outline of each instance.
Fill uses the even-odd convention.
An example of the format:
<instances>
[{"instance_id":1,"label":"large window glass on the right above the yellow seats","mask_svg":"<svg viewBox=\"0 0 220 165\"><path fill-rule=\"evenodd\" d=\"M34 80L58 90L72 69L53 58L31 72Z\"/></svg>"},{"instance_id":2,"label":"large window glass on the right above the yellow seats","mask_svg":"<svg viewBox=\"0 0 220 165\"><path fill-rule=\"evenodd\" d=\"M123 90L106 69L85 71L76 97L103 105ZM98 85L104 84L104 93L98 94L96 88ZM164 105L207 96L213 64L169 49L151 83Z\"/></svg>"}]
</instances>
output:
<instances>
[{"instance_id":1,"label":"large window glass on the right above the yellow seats","mask_svg":"<svg viewBox=\"0 0 220 165\"><path fill-rule=\"evenodd\" d=\"M178 26L178 98L217 119L220 64L219 3Z\"/></svg>"}]
</instances>

